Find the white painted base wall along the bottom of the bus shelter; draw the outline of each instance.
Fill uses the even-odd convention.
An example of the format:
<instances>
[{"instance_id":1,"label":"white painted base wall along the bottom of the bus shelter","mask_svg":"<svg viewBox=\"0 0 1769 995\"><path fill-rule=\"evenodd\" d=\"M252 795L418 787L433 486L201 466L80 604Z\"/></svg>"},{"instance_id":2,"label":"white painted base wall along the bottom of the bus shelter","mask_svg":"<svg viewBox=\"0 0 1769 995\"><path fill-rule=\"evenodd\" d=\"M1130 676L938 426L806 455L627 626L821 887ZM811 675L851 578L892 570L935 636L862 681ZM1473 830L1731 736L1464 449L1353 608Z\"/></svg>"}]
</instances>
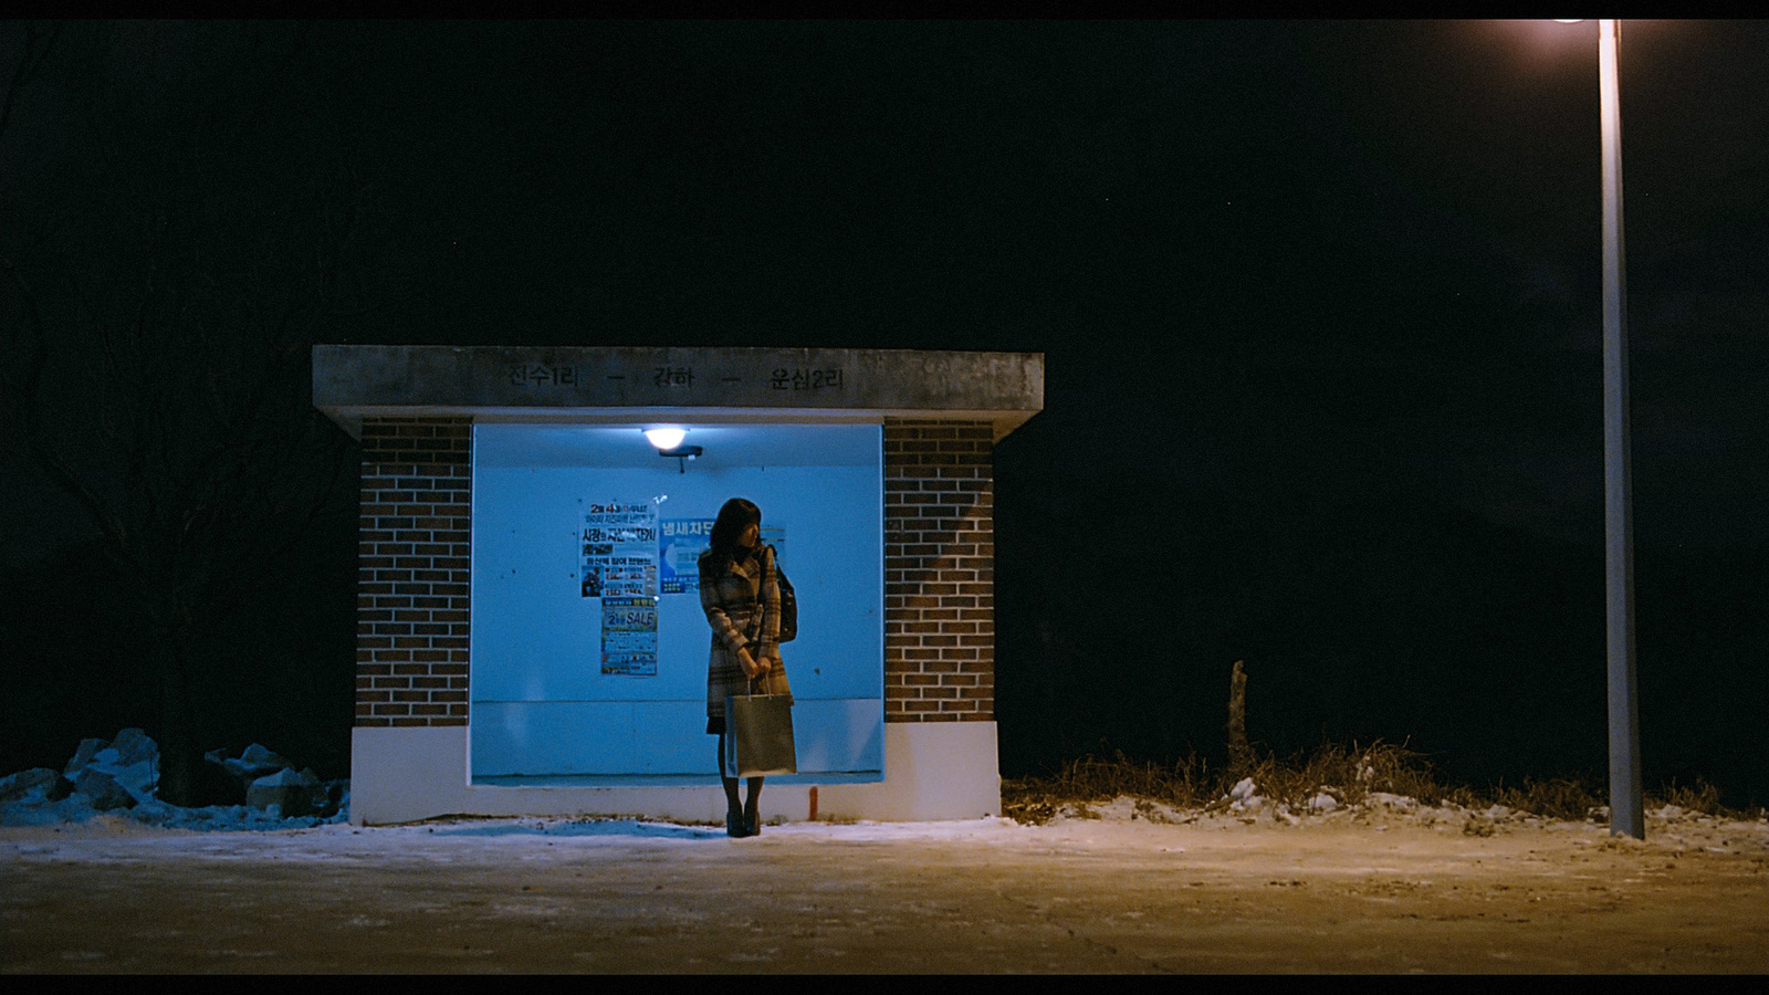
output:
<instances>
[{"instance_id":1,"label":"white painted base wall along the bottom of the bus shelter","mask_svg":"<svg viewBox=\"0 0 1769 995\"><path fill-rule=\"evenodd\" d=\"M999 770L994 722L886 722L884 781L817 786L817 816L923 821L999 814ZM448 814L649 816L724 823L725 795L716 784L469 784L467 726L352 729L352 823L386 825ZM762 820L800 821L808 816L808 784L770 784L762 791Z\"/></svg>"}]
</instances>

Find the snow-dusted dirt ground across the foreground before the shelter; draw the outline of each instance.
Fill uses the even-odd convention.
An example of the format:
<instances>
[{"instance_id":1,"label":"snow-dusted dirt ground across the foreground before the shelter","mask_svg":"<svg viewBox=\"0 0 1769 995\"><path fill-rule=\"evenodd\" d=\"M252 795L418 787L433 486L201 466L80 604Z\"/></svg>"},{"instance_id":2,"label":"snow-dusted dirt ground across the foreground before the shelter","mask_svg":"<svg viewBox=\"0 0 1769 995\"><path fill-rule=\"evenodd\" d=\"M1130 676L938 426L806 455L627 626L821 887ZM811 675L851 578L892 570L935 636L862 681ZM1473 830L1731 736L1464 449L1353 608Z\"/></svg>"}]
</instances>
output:
<instances>
[{"instance_id":1,"label":"snow-dusted dirt ground across the foreground before the shelter","mask_svg":"<svg viewBox=\"0 0 1769 995\"><path fill-rule=\"evenodd\" d=\"M1769 972L1764 821L1095 814L4 829L0 968Z\"/></svg>"}]
</instances>

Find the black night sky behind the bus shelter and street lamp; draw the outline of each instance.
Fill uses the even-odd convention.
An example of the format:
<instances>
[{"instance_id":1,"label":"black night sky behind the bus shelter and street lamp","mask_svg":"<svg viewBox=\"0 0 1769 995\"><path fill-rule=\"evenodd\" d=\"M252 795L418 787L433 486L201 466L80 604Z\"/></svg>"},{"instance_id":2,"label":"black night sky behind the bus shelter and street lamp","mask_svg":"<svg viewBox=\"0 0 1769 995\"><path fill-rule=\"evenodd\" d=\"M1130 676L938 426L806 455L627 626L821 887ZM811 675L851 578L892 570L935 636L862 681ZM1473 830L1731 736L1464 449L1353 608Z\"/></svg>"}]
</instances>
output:
<instances>
[{"instance_id":1,"label":"black night sky behind the bus shelter and street lamp","mask_svg":"<svg viewBox=\"0 0 1769 995\"><path fill-rule=\"evenodd\" d=\"M345 765L345 342L1044 352L1003 774L1215 761L1245 660L1277 752L1603 781L1596 21L0 32L7 770L161 637ZM1620 74L1645 777L1765 804L1769 23Z\"/></svg>"}]
</instances>

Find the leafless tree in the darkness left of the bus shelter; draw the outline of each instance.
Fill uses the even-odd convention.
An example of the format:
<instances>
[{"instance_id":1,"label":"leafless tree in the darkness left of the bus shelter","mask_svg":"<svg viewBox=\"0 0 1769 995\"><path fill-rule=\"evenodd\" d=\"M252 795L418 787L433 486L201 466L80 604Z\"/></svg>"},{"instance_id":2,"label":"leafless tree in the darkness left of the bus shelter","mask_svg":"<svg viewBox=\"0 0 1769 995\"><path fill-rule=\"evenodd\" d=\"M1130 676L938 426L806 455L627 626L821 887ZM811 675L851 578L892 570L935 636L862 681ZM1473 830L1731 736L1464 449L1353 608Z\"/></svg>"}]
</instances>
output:
<instances>
[{"instance_id":1,"label":"leafless tree in the darkness left of the bus shelter","mask_svg":"<svg viewBox=\"0 0 1769 995\"><path fill-rule=\"evenodd\" d=\"M5 432L83 515L154 669L161 790L191 795L207 627L325 517L354 457L310 402L366 184L299 143L297 32L14 27L0 101Z\"/></svg>"}]
</instances>

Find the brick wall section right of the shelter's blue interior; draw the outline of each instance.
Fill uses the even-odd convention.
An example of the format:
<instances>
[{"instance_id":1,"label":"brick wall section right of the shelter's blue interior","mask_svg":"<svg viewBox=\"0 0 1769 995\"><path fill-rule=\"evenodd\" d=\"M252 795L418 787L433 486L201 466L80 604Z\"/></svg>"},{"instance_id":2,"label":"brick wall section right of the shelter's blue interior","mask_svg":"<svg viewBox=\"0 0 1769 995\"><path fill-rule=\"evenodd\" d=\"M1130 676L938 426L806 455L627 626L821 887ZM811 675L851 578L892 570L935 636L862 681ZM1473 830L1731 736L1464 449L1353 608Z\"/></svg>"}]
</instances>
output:
<instances>
[{"instance_id":1,"label":"brick wall section right of the shelter's blue interior","mask_svg":"<svg viewBox=\"0 0 1769 995\"><path fill-rule=\"evenodd\" d=\"M884 421L884 721L994 719L994 430Z\"/></svg>"}]
</instances>

